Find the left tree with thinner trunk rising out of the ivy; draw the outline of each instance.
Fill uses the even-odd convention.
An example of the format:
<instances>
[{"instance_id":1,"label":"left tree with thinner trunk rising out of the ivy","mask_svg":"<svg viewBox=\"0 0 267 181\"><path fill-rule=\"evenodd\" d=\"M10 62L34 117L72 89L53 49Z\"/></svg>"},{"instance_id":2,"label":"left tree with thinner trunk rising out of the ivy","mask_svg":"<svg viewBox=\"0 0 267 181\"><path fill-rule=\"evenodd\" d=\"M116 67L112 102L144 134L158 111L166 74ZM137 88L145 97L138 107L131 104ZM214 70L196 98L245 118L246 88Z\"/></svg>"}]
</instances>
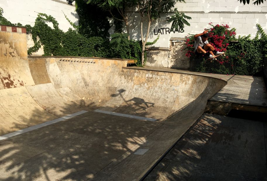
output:
<instances>
[{"instance_id":1,"label":"left tree with thinner trunk rising out of the ivy","mask_svg":"<svg viewBox=\"0 0 267 181\"><path fill-rule=\"evenodd\" d=\"M130 40L128 17L131 16L132 11L129 15L127 8L133 8L136 4L135 0L87 0L87 4L95 4L103 8L105 11L108 11L113 19L123 21L126 26L128 40Z\"/></svg>"}]
</instances>

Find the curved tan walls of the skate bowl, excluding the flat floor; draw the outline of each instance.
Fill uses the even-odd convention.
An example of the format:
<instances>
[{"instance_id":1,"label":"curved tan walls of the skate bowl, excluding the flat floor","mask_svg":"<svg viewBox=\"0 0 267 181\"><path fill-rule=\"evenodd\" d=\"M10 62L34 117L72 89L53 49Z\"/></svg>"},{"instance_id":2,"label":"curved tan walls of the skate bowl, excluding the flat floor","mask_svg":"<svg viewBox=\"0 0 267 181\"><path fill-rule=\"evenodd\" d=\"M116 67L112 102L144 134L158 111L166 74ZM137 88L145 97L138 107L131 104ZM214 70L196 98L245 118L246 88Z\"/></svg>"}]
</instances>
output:
<instances>
[{"instance_id":1,"label":"curved tan walls of the skate bowl, excluding the flat floor","mask_svg":"<svg viewBox=\"0 0 267 181\"><path fill-rule=\"evenodd\" d=\"M127 135L127 127L120 130L125 133L126 149L118 156L111 156L111 160L117 160L113 165L107 163L84 174L90 180L140 179L203 114L207 100L227 84L205 76L130 69L126 67L128 60L123 59L27 57L26 34L19 32L23 31L0 31L0 135L82 110L87 111L83 120L88 119L88 124L92 115L97 114L108 125L110 118L106 115L110 114L113 119L118 117L118 124L127 122L131 129L138 128L135 131L138 136ZM79 120L73 117L68 127ZM148 128L149 132L139 132ZM113 137L121 134L112 128L108 133ZM31 132L25 134L34 136ZM22 144L26 140L15 139L16 136L6 141ZM119 139L115 142L120 143ZM153 151L137 158L133 153L138 148ZM13 170L13 174L36 180L41 177L37 172L31 175L25 170Z\"/></svg>"}]
</instances>

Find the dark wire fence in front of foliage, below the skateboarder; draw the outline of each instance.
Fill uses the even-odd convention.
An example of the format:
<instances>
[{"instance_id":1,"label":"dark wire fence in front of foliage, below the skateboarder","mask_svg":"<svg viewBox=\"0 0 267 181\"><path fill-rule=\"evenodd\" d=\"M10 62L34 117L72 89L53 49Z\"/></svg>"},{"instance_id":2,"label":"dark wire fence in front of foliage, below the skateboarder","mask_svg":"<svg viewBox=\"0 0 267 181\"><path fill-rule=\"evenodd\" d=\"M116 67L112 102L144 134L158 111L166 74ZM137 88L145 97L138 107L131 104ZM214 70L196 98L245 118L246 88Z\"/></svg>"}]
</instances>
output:
<instances>
[{"instance_id":1,"label":"dark wire fence in front of foliage, below the skateboarder","mask_svg":"<svg viewBox=\"0 0 267 181\"><path fill-rule=\"evenodd\" d=\"M266 73L266 57L226 55L217 60L207 60L207 56L190 57L190 71L213 74L235 74L263 76ZM265 69L264 69L265 67Z\"/></svg>"}]
</instances>

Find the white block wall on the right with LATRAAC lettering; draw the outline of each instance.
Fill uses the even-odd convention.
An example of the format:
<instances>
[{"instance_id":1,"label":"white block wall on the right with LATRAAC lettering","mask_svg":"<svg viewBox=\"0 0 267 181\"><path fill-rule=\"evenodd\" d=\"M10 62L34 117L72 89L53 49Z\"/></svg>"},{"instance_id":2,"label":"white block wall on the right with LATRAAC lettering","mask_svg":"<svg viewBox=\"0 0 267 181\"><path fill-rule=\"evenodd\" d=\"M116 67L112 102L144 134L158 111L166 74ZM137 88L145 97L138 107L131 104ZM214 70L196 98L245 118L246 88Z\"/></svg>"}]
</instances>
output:
<instances>
[{"instance_id":1,"label":"white block wall on the right with LATRAAC lettering","mask_svg":"<svg viewBox=\"0 0 267 181\"><path fill-rule=\"evenodd\" d=\"M154 47L169 47L170 37L185 37L190 34L198 34L204 31L204 28L211 28L208 23L212 22L213 25L229 25L230 28L236 28L238 35L252 35L255 37L257 32L256 23L259 23L264 31L267 33L267 3L259 6L250 4L244 5L237 0L185 0L187 3L176 3L175 8L179 12L185 13L190 16L190 26L185 27L184 33L171 32L170 34L163 29L164 33L160 34L159 40L154 44ZM162 21L154 21L151 24L149 31L148 41L152 42L156 39L154 29L157 34L159 28L170 28L165 20L167 14L161 14ZM138 21L138 13L135 12L131 19L130 36L135 39L140 39L140 23ZM146 22L144 22L147 24ZM145 29L145 26L144 26ZM160 29L162 31L162 29ZM126 32L126 31L125 31ZM167 34L166 34L167 33Z\"/></svg>"}]
</instances>

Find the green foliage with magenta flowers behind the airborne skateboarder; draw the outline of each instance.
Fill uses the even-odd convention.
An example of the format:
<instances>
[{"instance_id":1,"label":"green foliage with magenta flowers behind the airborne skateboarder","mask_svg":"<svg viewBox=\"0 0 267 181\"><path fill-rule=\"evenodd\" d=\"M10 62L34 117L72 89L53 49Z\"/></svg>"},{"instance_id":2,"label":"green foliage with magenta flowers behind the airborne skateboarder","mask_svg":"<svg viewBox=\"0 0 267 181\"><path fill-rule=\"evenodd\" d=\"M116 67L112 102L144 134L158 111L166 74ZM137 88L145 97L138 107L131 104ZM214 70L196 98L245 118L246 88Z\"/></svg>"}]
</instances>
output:
<instances>
[{"instance_id":1,"label":"green foliage with magenta flowers behind the airborne skateboarder","mask_svg":"<svg viewBox=\"0 0 267 181\"><path fill-rule=\"evenodd\" d=\"M233 68L234 64L236 64L235 74L237 75L260 75L259 73L263 68L263 59L266 57L267 53L267 36L259 24L256 26L258 31L255 38L251 39L250 35L239 36L237 42L230 42L236 40L234 37L235 29L226 31L225 28L228 28L227 25L212 26L212 28L209 29L208 41L216 50L226 50L226 57L214 61L212 65L209 62L207 64L204 59L202 63L198 63L199 67L196 68L197 71L225 74L225 72L229 73L228 68L225 69L225 67L232 66ZM189 35L187 37L186 56L188 57L194 55L193 36L194 35Z\"/></svg>"}]
</instances>

